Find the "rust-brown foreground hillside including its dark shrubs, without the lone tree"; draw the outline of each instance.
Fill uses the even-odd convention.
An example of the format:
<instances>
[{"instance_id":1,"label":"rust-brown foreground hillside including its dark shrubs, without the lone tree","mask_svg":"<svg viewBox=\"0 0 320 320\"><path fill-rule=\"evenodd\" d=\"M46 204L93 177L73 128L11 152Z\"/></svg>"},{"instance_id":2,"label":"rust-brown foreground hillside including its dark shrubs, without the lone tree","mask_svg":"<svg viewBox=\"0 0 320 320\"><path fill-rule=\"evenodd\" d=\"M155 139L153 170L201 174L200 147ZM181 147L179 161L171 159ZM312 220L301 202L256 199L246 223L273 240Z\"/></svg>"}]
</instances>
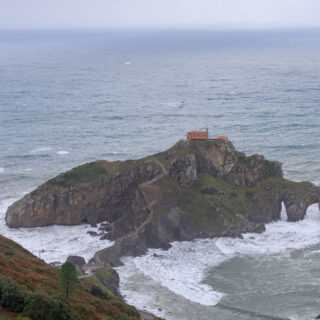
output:
<instances>
[{"instance_id":1,"label":"rust-brown foreground hillside including its dark shrubs, without the lone tree","mask_svg":"<svg viewBox=\"0 0 320 320\"><path fill-rule=\"evenodd\" d=\"M61 296L57 269L0 236L0 302L5 306L0 307L1 320L141 319L134 307L100 286L94 276L81 280L68 302L60 303ZM28 318L23 318L26 310Z\"/></svg>"}]
</instances>

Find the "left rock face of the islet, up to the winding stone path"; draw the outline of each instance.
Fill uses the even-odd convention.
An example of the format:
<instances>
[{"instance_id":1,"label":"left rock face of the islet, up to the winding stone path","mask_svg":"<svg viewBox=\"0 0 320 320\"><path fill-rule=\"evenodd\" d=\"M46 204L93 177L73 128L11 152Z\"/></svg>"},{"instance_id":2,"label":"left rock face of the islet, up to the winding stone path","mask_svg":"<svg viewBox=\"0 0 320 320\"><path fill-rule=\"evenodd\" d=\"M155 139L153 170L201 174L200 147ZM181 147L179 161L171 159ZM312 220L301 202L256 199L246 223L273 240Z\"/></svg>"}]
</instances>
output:
<instances>
[{"instance_id":1,"label":"left rock face of the islet, up to the winding stone path","mask_svg":"<svg viewBox=\"0 0 320 320\"><path fill-rule=\"evenodd\" d=\"M119 165L117 171L117 163L97 161L46 182L9 207L8 226L95 224L113 221L122 212L130 212L133 219L143 220L146 213L140 207L137 210L139 205L135 204L139 201L137 186L156 177L161 168L154 163L125 164L123 169Z\"/></svg>"}]
</instances>

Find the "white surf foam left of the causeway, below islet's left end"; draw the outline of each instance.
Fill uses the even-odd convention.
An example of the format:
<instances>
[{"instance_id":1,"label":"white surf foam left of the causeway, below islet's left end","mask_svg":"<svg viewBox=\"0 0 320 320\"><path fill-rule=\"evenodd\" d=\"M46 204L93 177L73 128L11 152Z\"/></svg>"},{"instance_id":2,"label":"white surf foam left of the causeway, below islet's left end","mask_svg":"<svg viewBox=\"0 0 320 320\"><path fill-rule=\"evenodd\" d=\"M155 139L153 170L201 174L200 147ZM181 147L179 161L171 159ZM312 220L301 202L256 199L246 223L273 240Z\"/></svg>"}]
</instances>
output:
<instances>
[{"instance_id":1,"label":"white surf foam left of the causeway, below islet's left end","mask_svg":"<svg viewBox=\"0 0 320 320\"><path fill-rule=\"evenodd\" d=\"M97 251L113 244L87 234L87 231L97 231L89 225L10 229L5 224L5 212L14 200L0 202L0 233L48 263L64 262L69 255L89 260Z\"/></svg>"}]
</instances>

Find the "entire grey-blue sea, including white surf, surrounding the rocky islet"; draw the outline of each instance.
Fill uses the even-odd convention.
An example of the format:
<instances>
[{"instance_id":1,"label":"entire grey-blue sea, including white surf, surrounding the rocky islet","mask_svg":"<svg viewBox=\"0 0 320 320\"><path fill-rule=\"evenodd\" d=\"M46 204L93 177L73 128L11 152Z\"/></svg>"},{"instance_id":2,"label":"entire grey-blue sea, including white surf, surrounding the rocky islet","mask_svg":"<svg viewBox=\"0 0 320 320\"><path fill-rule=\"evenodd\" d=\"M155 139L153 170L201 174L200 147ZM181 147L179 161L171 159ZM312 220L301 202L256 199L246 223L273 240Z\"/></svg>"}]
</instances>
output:
<instances>
[{"instance_id":1,"label":"entire grey-blue sea, including white surf, surrounding the rocky islet","mask_svg":"<svg viewBox=\"0 0 320 320\"><path fill-rule=\"evenodd\" d=\"M90 226L10 230L6 208L75 165L142 157L195 128L320 183L319 40L319 30L0 31L0 233L48 262L89 259L112 244ZM262 235L126 259L122 292L173 320L312 318L318 211Z\"/></svg>"}]
</instances>

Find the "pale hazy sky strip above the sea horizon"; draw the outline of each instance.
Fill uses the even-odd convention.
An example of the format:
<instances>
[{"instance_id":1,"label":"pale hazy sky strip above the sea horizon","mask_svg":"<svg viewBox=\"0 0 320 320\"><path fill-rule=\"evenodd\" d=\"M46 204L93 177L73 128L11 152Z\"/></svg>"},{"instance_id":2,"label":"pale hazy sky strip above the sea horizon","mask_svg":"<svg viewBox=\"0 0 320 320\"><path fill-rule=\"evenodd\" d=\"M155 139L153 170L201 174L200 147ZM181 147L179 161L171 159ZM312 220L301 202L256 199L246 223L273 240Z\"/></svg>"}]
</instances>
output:
<instances>
[{"instance_id":1,"label":"pale hazy sky strip above the sea horizon","mask_svg":"<svg viewBox=\"0 0 320 320\"><path fill-rule=\"evenodd\" d=\"M0 28L320 27L320 0L0 0Z\"/></svg>"}]
</instances>

